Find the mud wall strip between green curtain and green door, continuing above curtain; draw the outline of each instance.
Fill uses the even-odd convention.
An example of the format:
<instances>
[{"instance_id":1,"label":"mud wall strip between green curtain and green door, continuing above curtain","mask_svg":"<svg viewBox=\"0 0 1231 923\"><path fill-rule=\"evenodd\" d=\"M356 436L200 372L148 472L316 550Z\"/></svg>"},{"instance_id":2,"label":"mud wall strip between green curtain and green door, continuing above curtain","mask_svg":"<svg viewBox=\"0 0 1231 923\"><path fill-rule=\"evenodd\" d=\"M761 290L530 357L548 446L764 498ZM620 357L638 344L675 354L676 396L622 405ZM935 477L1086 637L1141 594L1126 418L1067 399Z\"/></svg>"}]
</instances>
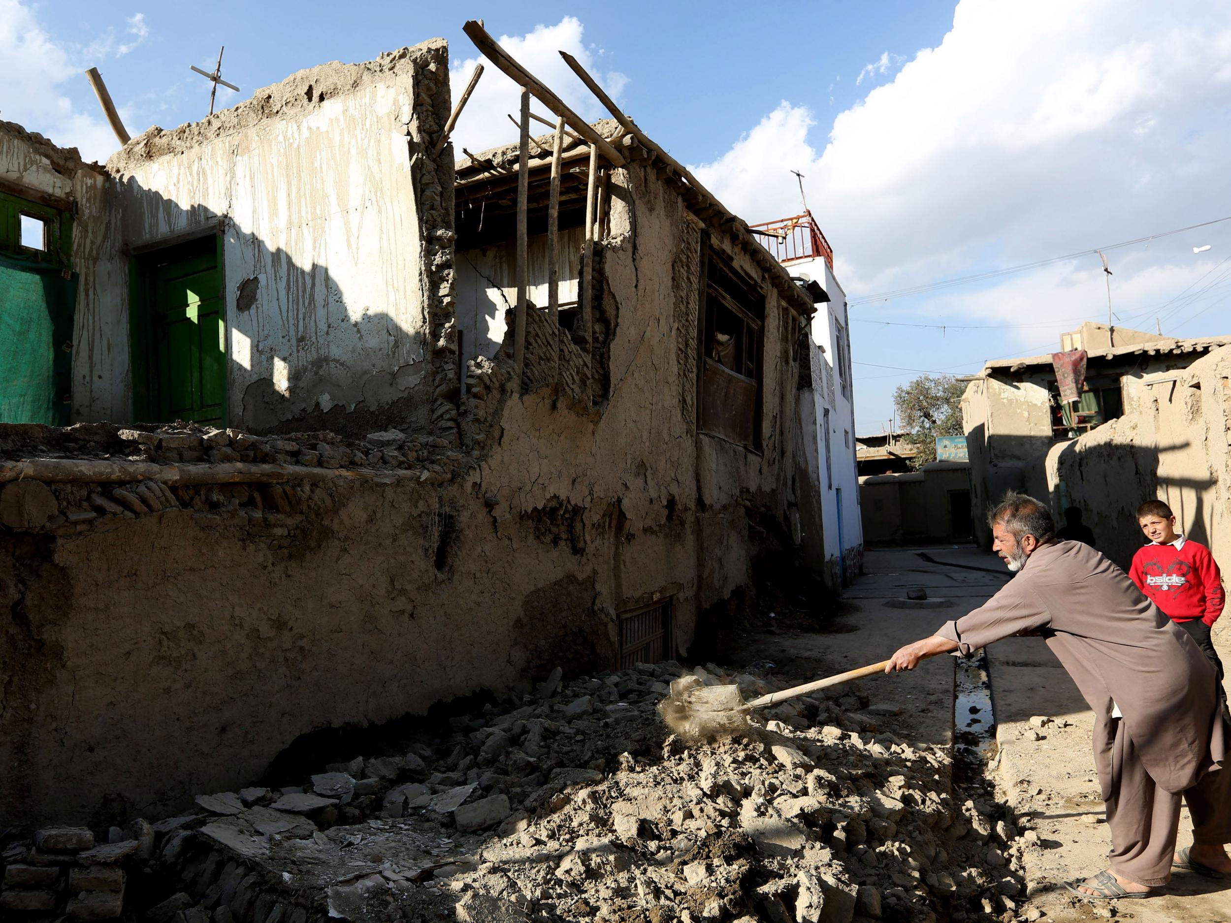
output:
<instances>
[{"instance_id":1,"label":"mud wall strip between green curtain and green door, continuing above curtain","mask_svg":"<svg viewBox=\"0 0 1231 923\"><path fill-rule=\"evenodd\" d=\"M0 122L0 191L73 215L70 266L79 273L73 331L73 420L132 418L128 282L106 171L75 148Z\"/></svg>"}]
</instances>

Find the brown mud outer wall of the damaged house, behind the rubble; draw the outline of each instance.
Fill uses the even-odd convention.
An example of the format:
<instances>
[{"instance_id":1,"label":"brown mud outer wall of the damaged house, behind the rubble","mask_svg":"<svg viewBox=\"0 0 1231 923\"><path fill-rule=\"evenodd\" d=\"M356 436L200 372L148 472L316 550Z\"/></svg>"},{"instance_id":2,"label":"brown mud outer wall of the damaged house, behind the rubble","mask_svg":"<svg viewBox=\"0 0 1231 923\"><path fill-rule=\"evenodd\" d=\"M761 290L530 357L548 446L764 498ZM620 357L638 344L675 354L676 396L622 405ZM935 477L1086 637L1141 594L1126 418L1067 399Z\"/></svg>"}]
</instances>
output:
<instances>
[{"instance_id":1,"label":"brown mud outer wall of the damaged house, behind the rubble","mask_svg":"<svg viewBox=\"0 0 1231 923\"><path fill-rule=\"evenodd\" d=\"M611 665L618 613L655 598L672 598L677 651L705 630L698 617L750 581L753 535L790 528L801 324L767 286L761 452L698 433L702 225L650 167L611 186L583 386L544 379L548 341L528 336L535 384L513 388L502 353L473 359L459 444L412 471L294 475L288 512L239 484L220 503L206 490L148 516L0 528L11 820L165 815L252 781L305 732ZM766 278L721 231L709 246ZM368 274L377 292L382 263ZM55 485L59 516L106 490Z\"/></svg>"}]
</instances>

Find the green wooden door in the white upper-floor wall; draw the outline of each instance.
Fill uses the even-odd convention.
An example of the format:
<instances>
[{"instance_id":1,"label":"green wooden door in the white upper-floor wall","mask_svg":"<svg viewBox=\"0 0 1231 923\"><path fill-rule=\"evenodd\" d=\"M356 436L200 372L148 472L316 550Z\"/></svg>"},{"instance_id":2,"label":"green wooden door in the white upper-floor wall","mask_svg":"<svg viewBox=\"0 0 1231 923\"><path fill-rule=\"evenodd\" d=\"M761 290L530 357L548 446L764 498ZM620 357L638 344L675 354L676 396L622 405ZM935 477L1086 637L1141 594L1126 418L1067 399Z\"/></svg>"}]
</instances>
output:
<instances>
[{"instance_id":1,"label":"green wooden door in the white upper-floor wall","mask_svg":"<svg viewBox=\"0 0 1231 923\"><path fill-rule=\"evenodd\" d=\"M159 421L222 423L227 324L217 254L162 263L150 283Z\"/></svg>"}]
</instances>

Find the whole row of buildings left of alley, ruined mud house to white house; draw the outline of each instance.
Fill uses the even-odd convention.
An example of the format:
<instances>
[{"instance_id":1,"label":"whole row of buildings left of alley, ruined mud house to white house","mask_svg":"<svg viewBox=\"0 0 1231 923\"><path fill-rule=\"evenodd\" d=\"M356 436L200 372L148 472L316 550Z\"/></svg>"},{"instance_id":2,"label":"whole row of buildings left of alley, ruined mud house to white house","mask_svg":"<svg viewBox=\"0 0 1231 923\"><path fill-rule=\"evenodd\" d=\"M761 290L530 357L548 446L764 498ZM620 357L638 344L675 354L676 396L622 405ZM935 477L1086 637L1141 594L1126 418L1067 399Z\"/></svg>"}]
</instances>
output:
<instances>
[{"instance_id":1,"label":"whole row of buildings left of alley, ruined mud house to white house","mask_svg":"<svg viewBox=\"0 0 1231 923\"><path fill-rule=\"evenodd\" d=\"M7 823L164 817L318 729L670 661L763 550L858 572L811 215L750 229L613 105L454 151L457 102L433 39L106 166L0 123Z\"/></svg>"}]
</instances>

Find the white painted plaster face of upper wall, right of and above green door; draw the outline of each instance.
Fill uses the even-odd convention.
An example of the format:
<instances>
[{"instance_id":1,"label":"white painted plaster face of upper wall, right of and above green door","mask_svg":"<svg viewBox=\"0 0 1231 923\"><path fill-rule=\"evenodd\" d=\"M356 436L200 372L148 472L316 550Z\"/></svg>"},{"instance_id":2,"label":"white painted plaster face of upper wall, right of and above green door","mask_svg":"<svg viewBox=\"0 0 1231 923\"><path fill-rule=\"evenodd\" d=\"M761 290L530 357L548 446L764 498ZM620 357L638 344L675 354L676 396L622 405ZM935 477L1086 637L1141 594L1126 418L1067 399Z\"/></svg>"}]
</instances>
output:
<instances>
[{"instance_id":1,"label":"white painted plaster face of upper wall, right of and above green door","mask_svg":"<svg viewBox=\"0 0 1231 923\"><path fill-rule=\"evenodd\" d=\"M121 161L129 244L227 217L231 423L373 410L430 386L414 94L411 68L391 70L308 113ZM251 278L256 302L239 311ZM430 396L416 399L425 420Z\"/></svg>"}]
</instances>

